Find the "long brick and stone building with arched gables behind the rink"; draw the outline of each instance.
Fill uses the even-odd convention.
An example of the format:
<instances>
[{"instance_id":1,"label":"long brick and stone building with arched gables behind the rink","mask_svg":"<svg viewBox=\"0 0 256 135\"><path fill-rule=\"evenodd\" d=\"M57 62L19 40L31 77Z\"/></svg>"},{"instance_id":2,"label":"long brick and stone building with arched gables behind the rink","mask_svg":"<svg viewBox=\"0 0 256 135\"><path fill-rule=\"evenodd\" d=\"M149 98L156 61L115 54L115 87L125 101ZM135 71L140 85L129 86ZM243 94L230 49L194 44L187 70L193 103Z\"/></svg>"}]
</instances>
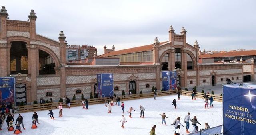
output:
<instances>
[{"instance_id":1,"label":"long brick and stone building with arched gables behind the rink","mask_svg":"<svg viewBox=\"0 0 256 135\"><path fill-rule=\"evenodd\" d=\"M4 6L0 11L0 77L15 76L16 90L26 93L28 104L41 97L58 101L62 96L72 98L76 94L79 99L81 93L89 98L90 92L94 94L97 89L98 73L114 74L117 95L122 90L128 94L131 89L136 93L150 92L152 86L162 89L162 70L176 70L182 88L222 84L221 78L233 77L234 82L243 79L244 63L198 63L199 44L186 43L184 27L180 34L170 27L168 41L159 42L156 38L151 45L119 51L113 46L91 63L68 65L64 32L60 31L58 41L49 39L36 33L34 10L28 18L29 21L9 20ZM26 61L27 66L23 67L27 68L21 68ZM248 65L250 70L246 67L246 73L254 75L255 64Z\"/></svg>"}]
</instances>

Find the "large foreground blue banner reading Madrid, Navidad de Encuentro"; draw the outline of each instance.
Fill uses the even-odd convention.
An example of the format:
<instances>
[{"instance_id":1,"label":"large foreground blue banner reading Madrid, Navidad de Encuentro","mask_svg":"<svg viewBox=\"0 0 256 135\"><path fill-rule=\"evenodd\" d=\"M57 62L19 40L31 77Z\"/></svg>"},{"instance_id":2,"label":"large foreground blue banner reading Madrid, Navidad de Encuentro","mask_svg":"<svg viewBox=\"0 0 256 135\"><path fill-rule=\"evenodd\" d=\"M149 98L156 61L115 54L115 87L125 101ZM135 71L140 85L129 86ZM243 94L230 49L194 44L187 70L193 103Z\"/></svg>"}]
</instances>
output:
<instances>
[{"instance_id":1,"label":"large foreground blue banner reading Madrid, Navidad de Encuentro","mask_svg":"<svg viewBox=\"0 0 256 135\"><path fill-rule=\"evenodd\" d=\"M224 85L224 135L254 135L255 127L256 88Z\"/></svg>"}]
</instances>

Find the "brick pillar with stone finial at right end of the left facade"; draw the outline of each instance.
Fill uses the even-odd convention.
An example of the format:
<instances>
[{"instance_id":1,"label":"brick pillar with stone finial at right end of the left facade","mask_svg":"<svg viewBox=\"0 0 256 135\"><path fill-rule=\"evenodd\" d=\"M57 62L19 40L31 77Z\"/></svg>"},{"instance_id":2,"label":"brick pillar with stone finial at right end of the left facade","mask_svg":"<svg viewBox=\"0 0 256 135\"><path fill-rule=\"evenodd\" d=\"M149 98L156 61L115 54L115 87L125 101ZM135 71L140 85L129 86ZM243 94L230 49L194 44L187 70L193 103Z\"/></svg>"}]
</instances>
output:
<instances>
[{"instance_id":1,"label":"brick pillar with stone finial at right end of the left facade","mask_svg":"<svg viewBox=\"0 0 256 135\"><path fill-rule=\"evenodd\" d=\"M58 37L60 41L60 96L63 97L66 95L66 43L65 43L65 34L63 31L60 31L60 36Z\"/></svg>"}]
</instances>

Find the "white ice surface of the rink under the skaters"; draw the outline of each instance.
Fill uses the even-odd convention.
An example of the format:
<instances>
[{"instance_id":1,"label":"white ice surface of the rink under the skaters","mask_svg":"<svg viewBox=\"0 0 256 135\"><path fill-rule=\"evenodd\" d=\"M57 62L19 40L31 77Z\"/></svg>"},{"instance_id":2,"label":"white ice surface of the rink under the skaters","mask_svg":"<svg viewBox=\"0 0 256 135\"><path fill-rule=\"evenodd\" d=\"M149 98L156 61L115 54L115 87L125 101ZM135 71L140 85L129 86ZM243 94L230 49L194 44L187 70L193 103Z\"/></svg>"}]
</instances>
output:
<instances>
[{"instance_id":1,"label":"white ice surface of the rink under the skaters","mask_svg":"<svg viewBox=\"0 0 256 135\"><path fill-rule=\"evenodd\" d=\"M208 123L210 127L222 125L222 103L214 101L214 108L204 109L202 99L191 100L191 97L181 96L181 100L177 100L177 109L174 109L172 100L177 95L144 98L138 100L124 101L125 117L128 121L125 128L121 128L122 109L117 105L112 106L112 113L107 113L105 104L97 104L88 106L88 110L81 107L71 107L71 109L63 109L63 117L58 117L58 109L53 109L55 120L51 120L48 110L38 111L38 120L40 125L37 129L31 129L33 112L21 113L23 116L24 126L21 135L149 135L150 129L156 125L156 135L173 135L174 126L171 123L178 117L181 117L182 133L185 134L186 123L184 116L190 112L190 117L195 115L199 123L199 129L204 128L204 123ZM145 118L140 118L139 106L145 108ZM128 117L128 109L133 107L132 118ZM209 104L210 107L210 104ZM167 126L161 125L162 117L159 113L166 113ZM18 114L15 115L14 121ZM7 124L4 121L0 135L12 135L13 131L7 131ZM193 130L190 122L190 132Z\"/></svg>"}]
</instances>

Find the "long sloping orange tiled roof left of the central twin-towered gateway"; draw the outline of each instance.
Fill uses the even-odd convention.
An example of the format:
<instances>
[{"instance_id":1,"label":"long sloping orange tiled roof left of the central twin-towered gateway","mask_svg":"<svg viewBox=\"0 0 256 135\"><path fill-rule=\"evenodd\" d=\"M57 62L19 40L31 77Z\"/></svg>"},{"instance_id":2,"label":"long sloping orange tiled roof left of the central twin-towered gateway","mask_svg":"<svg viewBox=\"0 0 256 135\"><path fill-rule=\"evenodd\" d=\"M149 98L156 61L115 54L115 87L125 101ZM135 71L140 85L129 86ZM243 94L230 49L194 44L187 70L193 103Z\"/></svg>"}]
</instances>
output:
<instances>
[{"instance_id":1,"label":"long sloping orange tiled roof left of the central twin-towered gateway","mask_svg":"<svg viewBox=\"0 0 256 135\"><path fill-rule=\"evenodd\" d=\"M168 41L166 41L166 42L168 42ZM160 45L162 45L166 42L161 42ZM109 53L105 53L103 55L99 55L98 58L115 56L115 55L123 55L123 54L127 54L127 53L136 53L136 52L142 52L142 51L152 51L153 46L154 46L154 44L150 44L150 45L143 45L143 46L140 46L140 47L134 47L134 48L128 48L128 49L123 49L123 50L118 50L118 51L112 51L112 52L109 52Z\"/></svg>"}]
</instances>

